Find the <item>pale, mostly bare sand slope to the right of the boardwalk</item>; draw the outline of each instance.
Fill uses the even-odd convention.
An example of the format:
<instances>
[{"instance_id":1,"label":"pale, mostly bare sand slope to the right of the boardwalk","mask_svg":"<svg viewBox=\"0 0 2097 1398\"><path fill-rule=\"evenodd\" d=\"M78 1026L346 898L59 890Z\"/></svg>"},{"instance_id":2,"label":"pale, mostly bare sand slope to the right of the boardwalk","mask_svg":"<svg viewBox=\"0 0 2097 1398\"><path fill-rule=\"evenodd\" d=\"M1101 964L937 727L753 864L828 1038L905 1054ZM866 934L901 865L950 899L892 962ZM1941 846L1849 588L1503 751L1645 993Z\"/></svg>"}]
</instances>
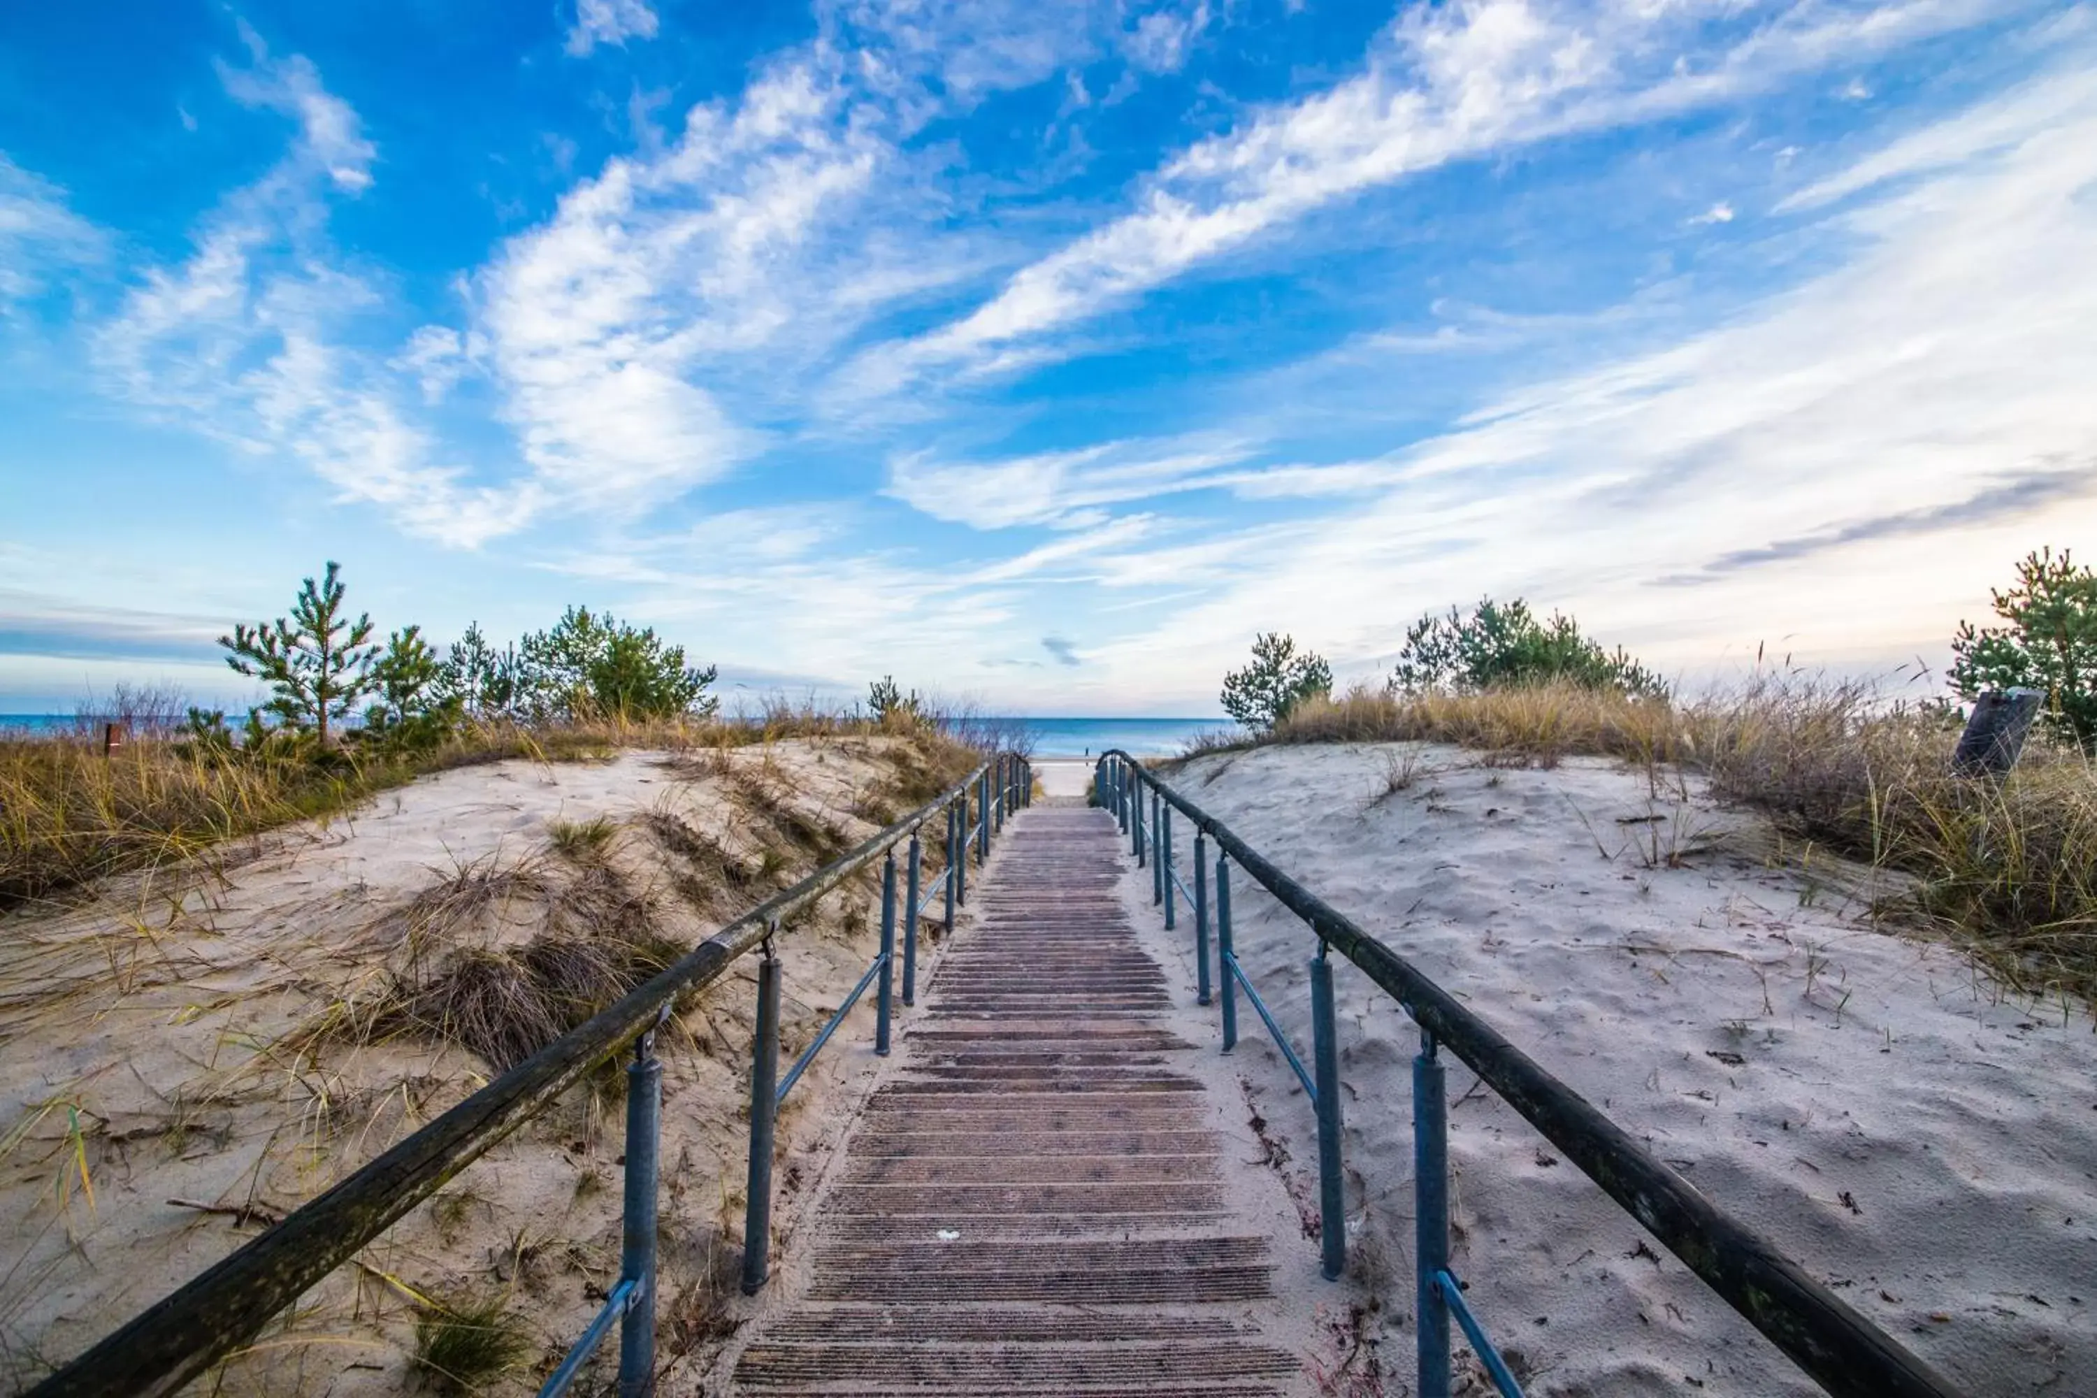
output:
<instances>
[{"instance_id":1,"label":"pale, mostly bare sand slope to the right of the boardwalk","mask_svg":"<svg viewBox=\"0 0 2097 1398\"><path fill-rule=\"evenodd\" d=\"M1411 786L1384 794L1405 761ZM1264 748L1170 780L1954 1383L2097 1394L2087 1008L2017 1002L1957 949L1871 926L1862 870L1801 874L1759 822L1615 763ZM1149 903L1147 874L1126 887ZM1309 1058L1315 943L1244 876L1233 893L1241 962ZM1418 1033L1344 962L1338 996L1355 1262L1397 1320L1388 1392L1409 1392ZM1250 1006L1239 1025L1315 1211L1304 1096ZM1451 1058L1455 1266L1533 1394L1818 1392L1472 1086Z\"/></svg>"}]
</instances>

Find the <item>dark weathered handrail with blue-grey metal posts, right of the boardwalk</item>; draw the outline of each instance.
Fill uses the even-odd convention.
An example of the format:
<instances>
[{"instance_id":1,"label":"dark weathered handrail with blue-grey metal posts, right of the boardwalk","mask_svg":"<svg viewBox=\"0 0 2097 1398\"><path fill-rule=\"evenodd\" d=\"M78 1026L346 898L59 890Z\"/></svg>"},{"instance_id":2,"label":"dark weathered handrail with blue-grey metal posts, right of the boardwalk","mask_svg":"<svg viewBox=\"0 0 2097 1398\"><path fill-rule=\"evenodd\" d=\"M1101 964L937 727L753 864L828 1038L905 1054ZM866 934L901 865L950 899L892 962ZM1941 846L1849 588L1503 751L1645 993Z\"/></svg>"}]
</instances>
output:
<instances>
[{"instance_id":1,"label":"dark weathered handrail with blue-grey metal posts, right of the boardwalk","mask_svg":"<svg viewBox=\"0 0 2097 1398\"><path fill-rule=\"evenodd\" d=\"M1411 962L1365 933L1350 918L1275 868L1246 845L1223 822L1179 794L1158 773L1132 755L1111 748L1099 759L1101 790L1109 792L1118 813L1141 828L1143 788L1164 807L1181 811L1199 834L1218 847L1218 947L1229 956L1229 884L1220 874L1225 859L1235 861L1283 908L1302 918L1319 937L1319 956L1311 962L1313 1027L1319 1044L1317 1082L1338 1079L1332 1012L1332 970L1325 952L1338 952L1390 993L1413 1023L1420 1025L1422 1048L1413 1061L1415 1121L1415 1191L1418 1191L1418 1295L1420 1295L1420 1392L1422 1398L1447 1394L1449 1306L1434 1281L1447 1270L1447 1146L1445 1096L1441 1088L1439 1048L1449 1048L1478 1079L1497 1092L1516 1113L1556 1144L1581 1174L1602 1186L1619 1207L1631 1214L1655 1239L1676 1253L1705 1285L1741 1312L1820 1388L1841 1398L1952 1398L1959 1394L1948 1379L1902 1348L1894 1337L1866 1320L1806 1274L1799 1264L1776 1251L1761 1235L1722 1214L1694 1184L1661 1163L1621 1126L1566 1084L1552 1077L1535 1058L1510 1044L1497 1029L1472 1014L1449 991L1422 975ZM1143 840L1137 840L1141 847ZM1233 958L1235 960L1235 958ZM1225 979L1229 989L1229 977ZM1229 1033L1231 998L1225 996ZM1327 1075L1329 1073L1329 1075ZM1340 1197L1340 1119L1338 1092L1321 1092L1319 1107L1319 1176L1321 1176L1321 1241L1325 1274L1338 1276L1344 1266L1344 1209ZM1439 1235L1439 1237L1434 1237ZM1470 1333L1466 1329L1466 1333ZM1483 1333L1478 1335L1483 1339ZM1436 1354L1439 1350L1439 1354ZM1434 1373L1430 1373L1430 1369ZM1439 1381L1439 1385L1436 1385Z\"/></svg>"}]
</instances>

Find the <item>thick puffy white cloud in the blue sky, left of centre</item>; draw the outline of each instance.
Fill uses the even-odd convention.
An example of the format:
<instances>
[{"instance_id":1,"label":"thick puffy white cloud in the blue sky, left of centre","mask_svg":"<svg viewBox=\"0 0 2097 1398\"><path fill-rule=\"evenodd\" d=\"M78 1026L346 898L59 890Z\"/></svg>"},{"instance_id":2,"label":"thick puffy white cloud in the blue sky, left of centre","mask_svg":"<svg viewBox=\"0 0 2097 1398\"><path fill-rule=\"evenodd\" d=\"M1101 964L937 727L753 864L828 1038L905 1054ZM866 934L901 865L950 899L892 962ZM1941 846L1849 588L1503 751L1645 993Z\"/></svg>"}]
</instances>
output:
<instances>
[{"instance_id":1,"label":"thick puffy white cloud in the blue sky, left of centre","mask_svg":"<svg viewBox=\"0 0 2097 1398\"><path fill-rule=\"evenodd\" d=\"M478 279L476 329L533 472L631 507L744 459L757 436L692 375L835 319L799 321L782 272L885 157L816 54L696 107L675 147L610 161L512 239Z\"/></svg>"}]
</instances>

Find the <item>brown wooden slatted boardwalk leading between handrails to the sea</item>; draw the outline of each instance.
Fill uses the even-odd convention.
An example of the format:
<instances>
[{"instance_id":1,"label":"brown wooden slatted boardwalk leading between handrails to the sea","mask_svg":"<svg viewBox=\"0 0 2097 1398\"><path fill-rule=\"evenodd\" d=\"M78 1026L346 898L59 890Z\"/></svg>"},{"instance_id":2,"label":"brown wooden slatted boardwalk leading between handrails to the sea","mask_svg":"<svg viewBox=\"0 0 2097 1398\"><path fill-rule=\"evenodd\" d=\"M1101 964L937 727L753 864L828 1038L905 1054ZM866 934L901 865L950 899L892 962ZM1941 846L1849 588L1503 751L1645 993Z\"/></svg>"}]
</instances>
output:
<instances>
[{"instance_id":1,"label":"brown wooden slatted boardwalk leading between handrails to the sea","mask_svg":"<svg viewBox=\"0 0 2097 1398\"><path fill-rule=\"evenodd\" d=\"M1256 1329L1267 1228L1233 1211L1120 876L1105 811L1009 822L734 1392L1294 1392Z\"/></svg>"}]
</instances>

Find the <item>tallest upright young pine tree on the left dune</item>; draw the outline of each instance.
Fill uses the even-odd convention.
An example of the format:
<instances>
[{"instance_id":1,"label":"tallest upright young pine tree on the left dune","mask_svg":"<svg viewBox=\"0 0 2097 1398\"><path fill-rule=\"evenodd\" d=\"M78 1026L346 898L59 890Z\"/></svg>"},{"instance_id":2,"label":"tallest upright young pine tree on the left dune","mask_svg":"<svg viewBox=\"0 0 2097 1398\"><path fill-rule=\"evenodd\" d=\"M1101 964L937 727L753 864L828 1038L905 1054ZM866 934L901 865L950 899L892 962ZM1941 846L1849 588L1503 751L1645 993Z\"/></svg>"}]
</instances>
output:
<instances>
[{"instance_id":1,"label":"tallest upright young pine tree on the left dune","mask_svg":"<svg viewBox=\"0 0 2097 1398\"><path fill-rule=\"evenodd\" d=\"M235 673L275 692L262 708L294 731L315 731L321 748L329 744L329 729L371 692L371 664L380 654L367 643L371 616L352 622L344 614L338 574L340 568L329 562L319 587L306 578L289 618L254 627L237 622L233 635L218 637L231 652L226 664Z\"/></svg>"}]
</instances>

